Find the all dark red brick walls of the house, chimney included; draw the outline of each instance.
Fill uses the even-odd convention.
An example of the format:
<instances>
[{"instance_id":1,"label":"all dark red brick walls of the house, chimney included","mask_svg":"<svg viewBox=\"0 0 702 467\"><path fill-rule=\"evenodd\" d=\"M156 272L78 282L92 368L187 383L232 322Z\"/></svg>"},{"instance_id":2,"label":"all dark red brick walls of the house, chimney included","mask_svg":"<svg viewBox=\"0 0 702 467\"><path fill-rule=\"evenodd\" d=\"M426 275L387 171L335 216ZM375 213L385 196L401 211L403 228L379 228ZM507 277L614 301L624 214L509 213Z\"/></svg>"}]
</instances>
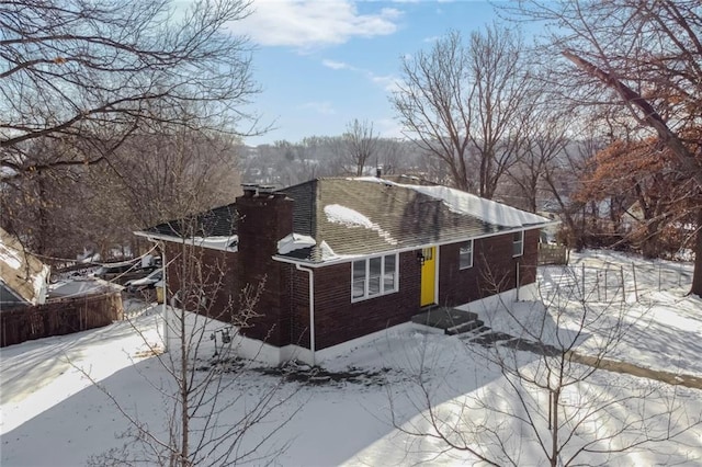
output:
<instances>
[{"instance_id":1,"label":"all dark red brick walls of the house, chimney included","mask_svg":"<svg viewBox=\"0 0 702 467\"><path fill-rule=\"evenodd\" d=\"M229 303L236 309L239 291L247 284L256 286L265 277L265 288L256 307L261 316L244 333L276 346L292 343L309 348L308 273L271 259L276 241L292 231L292 203L287 202L239 198L237 205L244 219L239 223L239 252L196 250L201 250L203 263L215 264L225 274L213 309L226 308ZM267 208L263 216L257 215L261 207ZM454 306L513 288L518 263L524 265L521 284L534 282L537 241L539 230L526 231L524 254L512 258L512 234L475 240L474 265L463 271L458 270L460 244L440 247L439 304ZM169 252L170 258L173 254ZM401 253L399 292L352 304L351 263L315 269L316 349L408 321L419 311L420 278L416 253ZM178 289L174 281L177 277L169 273L171 291Z\"/></svg>"}]
</instances>

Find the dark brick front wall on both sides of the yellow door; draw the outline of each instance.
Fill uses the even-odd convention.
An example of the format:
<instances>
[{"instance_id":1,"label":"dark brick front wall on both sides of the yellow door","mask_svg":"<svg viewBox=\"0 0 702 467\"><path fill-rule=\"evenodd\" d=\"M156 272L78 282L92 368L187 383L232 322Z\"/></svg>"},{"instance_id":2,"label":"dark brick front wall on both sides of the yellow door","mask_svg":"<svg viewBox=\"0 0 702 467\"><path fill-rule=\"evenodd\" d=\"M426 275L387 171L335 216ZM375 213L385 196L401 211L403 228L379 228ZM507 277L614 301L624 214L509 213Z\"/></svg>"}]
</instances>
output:
<instances>
[{"instance_id":1,"label":"dark brick front wall on both sides of the yellow door","mask_svg":"<svg viewBox=\"0 0 702 467\"><path fill-rule=\"evenodd\" d=\"M458 270L458 243L441 247L439 257L440 305L455 306L514 288L517 264L522 285L534 282L539 231L524 234L524 254L512 258L512 234L475 240L474 265ZM489 267L486 266L489 262ZM420 265L415 252L400 254L399 292L351 303L351 263L316 269L315 334L321 350L390 326L408 321L419 311ZM303 335L309 348L307 273L295 271L293 280L292 334ZM295 342L293 342L295 343Z\"/></svg>"}]
</instances>

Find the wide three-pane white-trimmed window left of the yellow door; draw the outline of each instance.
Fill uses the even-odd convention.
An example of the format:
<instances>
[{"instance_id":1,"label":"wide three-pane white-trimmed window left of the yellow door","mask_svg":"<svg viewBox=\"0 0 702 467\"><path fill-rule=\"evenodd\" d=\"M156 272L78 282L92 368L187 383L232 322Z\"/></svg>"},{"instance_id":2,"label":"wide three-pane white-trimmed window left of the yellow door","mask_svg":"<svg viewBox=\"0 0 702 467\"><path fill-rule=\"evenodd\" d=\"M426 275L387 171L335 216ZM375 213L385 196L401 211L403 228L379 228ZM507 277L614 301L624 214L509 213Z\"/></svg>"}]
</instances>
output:
<instances>
[{"instance_id":1,"label":"wide three-pane white-trimmed window left of the yellow door","mask_svg":"<svg viewBox=\"0 0 702 467\"><path fill-rule=\"evenodd\" d=\"M351 301L397 292L398 263L397 253L354 261L351 265Z\"/></svg>"}]
</instances>

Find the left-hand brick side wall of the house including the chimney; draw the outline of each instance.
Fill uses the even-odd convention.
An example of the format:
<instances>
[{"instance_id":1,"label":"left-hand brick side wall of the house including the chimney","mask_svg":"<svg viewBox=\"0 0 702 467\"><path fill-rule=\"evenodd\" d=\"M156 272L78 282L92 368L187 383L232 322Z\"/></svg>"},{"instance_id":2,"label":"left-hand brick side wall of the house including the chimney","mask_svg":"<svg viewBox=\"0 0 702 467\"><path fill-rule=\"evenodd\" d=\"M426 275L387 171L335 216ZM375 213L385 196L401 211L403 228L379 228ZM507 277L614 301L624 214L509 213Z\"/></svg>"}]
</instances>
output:
<instances>
[{"instance_id":1,"label":"left-hand brick side wall of the house including the chimney","mask_svg":"<svg viewBox=\"0 0 702 467\"><path fill-rule=\"evenodd\" d=\"M278 240L292 232L292 201L283 196L261 195L237 198L238 252L168 243L168 283L172 292L182 288L183 277L191 286L205 284L204 292L214 301L205 307L185 304L224 322L241 324L245 314L241 291L264 283L253 312L242 333L272 345L286 345L291 340L291 266L273 261ZM185 261L185 264L183 263Z\"/></svg>"}]
</instances>

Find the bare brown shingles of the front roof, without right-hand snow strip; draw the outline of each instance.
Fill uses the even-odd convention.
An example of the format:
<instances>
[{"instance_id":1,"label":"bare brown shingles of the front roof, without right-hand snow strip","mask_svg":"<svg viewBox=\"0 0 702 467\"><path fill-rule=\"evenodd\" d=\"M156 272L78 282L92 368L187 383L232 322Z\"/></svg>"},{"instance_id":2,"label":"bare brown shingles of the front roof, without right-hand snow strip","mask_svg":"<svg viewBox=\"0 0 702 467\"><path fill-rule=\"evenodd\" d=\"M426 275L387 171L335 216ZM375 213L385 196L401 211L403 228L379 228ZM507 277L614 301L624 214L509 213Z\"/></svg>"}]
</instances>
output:
<instances>
[{"instance_id":1,"label":"bare brown shingles of the front roof, without right-hand snow strip","mask_svg":"<svg viewBox=\"0 0 702 467\"><path fill-rule=\"evenodd\" d=\"M318 179L282 192L295 202L295 231L317 240L317 247L309 249L308 259L313 261L322 259L322 241L338 255L371 254L460 241L503 229L394 183ZM366 224L354 225L337 215L353 212ZM298 258L299 253L291 255Z\"/></svg>"}]
</instances>

